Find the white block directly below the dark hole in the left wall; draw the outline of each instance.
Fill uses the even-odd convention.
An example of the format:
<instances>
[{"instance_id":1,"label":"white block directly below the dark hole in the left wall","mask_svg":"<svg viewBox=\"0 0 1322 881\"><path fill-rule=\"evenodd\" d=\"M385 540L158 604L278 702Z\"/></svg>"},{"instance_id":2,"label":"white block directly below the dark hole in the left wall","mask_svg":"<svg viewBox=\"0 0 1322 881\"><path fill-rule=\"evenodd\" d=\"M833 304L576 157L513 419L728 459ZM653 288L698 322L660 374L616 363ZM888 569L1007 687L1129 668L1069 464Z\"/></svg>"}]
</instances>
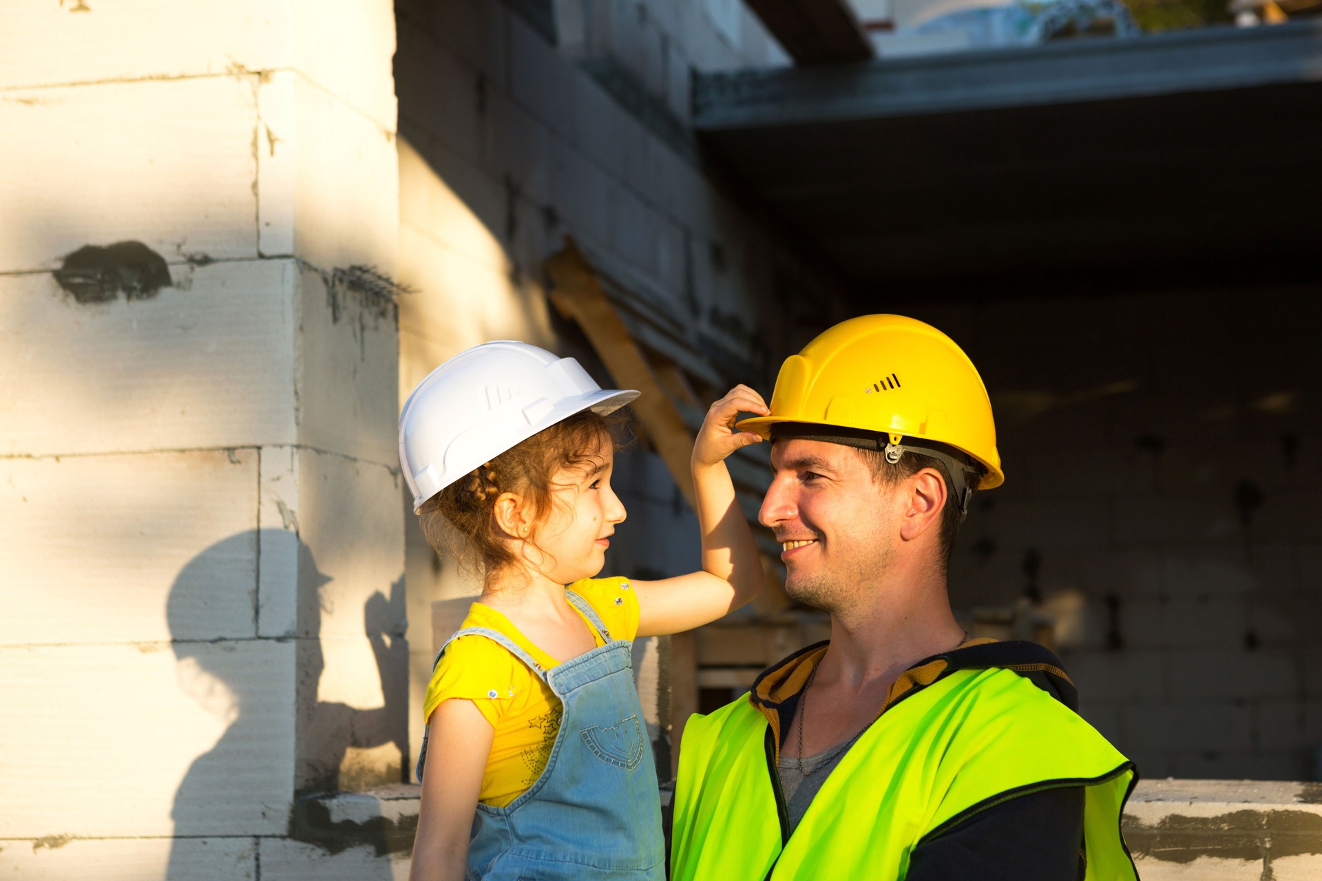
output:
<instances>
[{"instance_id":1,"label":"white block directly below the dark hole in the left wall","mask_svg":"<svg viewBox=\"0 0 1322 881\"><path fill-rule=\"evenodd\" d=\"M22 376L0 383L0 454L292 442L293 263L171 271L155 297L90 304L0 277L0 375Z\"/></svg>"}]
</instances>

